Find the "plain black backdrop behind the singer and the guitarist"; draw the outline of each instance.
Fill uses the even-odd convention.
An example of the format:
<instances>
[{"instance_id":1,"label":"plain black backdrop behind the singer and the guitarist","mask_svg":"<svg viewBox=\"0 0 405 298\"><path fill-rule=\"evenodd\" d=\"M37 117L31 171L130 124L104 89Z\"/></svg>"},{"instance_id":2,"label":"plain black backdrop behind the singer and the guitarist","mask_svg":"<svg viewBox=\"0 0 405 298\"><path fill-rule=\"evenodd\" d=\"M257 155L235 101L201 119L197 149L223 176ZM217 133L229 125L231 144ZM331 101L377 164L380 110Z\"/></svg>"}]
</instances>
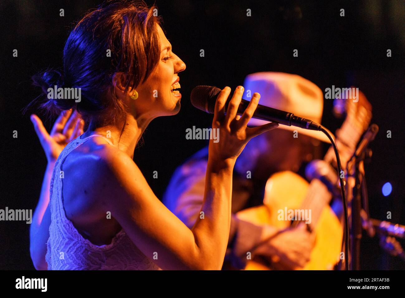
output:
<instances>
[{"instance_id":1,"label":"plain black backdrop behind the singer and the guitarist","mask_svg":"<svg viewBox=\"0 0 405 298\"><path fill-rule=\"evenodd\" d=\"M62 66L64 43L75 21L100 1L0 2L0 208L33 209L46 166L45 154L22 109L39 90L30 77L40 69ZM147 4L153 4L147 1ZM404 52L405 2L370 1L156 1L173 51L187 64L180 74L181 111L153 120L135 150L134 160L153 191L162 197L175 168L205 145L185 139L193 125L209 127L212 116L192 107L196 85L234 89L249 73L281 71L301 75L323 91L354 84L373 105L372 122L380 132L366 165L371 216L405 225L404 212ZM59 10L64 9L64 17ZM340 17L340 9L345 16ZM252 16L246 16L246 9ZM13 49L18 57L13 57ZM200 57L200 49L205 57ZM293 57L298 49L298 57ZM386 56L387 49L392 57ZM335 131L341 120L325 100L323 124ZM38 114L43 120L45 117ZM49 129L53 122L48 120ZM13 131L18 138L13 138ZM392 138L386 131L392 131ZM326 150L326 148L325 148ZM152 178L158 171L158 179ZM388 197L382 185L391 182ZM363 238L361 268L404 269L399 258L387 256L378 239ZM0 269L33 269L29 226L0 222Z\"/></svg>"}]
</instances>

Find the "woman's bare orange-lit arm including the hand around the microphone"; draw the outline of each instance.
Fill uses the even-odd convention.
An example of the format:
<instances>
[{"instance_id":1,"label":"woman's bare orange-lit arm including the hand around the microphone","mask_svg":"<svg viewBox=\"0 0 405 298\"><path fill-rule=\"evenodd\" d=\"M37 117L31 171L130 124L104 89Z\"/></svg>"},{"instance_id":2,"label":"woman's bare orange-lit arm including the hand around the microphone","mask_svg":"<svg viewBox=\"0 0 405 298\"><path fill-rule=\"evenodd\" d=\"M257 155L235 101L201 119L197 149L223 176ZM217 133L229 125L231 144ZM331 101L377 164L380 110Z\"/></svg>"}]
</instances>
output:
<instances>
[{"instance_id":1,"label":"woman's bare orange-lit arm including the hand around the microphone","mask_svg":"<svg viewBox=\"0 0 405 298\"><path fill-rule=\"evenodd\" d=\"M250 138L277 127L246 127L257 107L258 94L237 120L241 90L235 91L224 116L229 93L224 89L215 106L213 129L219 129L220 141L210 141L201 209L205 216L198 218L191 230L158 200L124 152L111 153L92 169L99 173L95 179L101 187L95 195L103 198L101 204L107 206L134 244L162 269L221 269L230 231L234 162Z\"/></svg>"}]
</instances>

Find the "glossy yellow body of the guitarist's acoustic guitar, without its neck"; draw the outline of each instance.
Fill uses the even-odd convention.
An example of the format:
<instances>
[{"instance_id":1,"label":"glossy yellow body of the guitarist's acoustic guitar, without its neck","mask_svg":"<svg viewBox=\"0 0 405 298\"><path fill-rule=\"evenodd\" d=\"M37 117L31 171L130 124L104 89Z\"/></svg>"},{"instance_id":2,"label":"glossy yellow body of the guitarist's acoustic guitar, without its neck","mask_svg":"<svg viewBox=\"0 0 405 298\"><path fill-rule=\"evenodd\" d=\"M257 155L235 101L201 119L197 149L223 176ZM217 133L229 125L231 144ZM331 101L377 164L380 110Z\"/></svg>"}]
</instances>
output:
<instances>
[{"instance_id":1,"label":"glossy yellow body of the guitarist's acoustic guitar, without its neck","mask_svg":"<svg viewBox=\"0 0 405 298\"><path fill-rule=\"evenodd\" d=\"M256 224L269 224L287 228L290 221L278 220L278 210L301 209L309 184L301 176L285 171L272 175L266 184L263 205L237 213L237 217ZM311 259L302 270L332 270L339 261L343 227L329 205L324 206L313 231L315 246ZM245 270L270 270L268 266L253 259ZM298 269L298 268L297 268Z\"/></svg>"}]
</instances>

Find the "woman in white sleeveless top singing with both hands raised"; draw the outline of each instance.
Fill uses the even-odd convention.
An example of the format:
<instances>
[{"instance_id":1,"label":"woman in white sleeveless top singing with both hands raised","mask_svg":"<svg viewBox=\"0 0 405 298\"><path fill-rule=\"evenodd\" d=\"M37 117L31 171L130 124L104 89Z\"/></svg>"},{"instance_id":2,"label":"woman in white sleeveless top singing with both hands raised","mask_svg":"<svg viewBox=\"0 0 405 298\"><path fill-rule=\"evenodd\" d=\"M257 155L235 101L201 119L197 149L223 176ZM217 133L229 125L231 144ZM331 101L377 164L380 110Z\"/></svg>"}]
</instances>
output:
<instances>
[{"instance_id":1,"label":"woman in white sleeveless top singing with both hands raised","mask_svg":"<svg viewBox=\"0 0 405 298\"><path fill-rule=\"evenodd\" d=\"M230 88L222 90L212 123L219 142L209 144L205 216L186 227L132 160L149 122L180 109L174 89L185 64L153 8L116 2L88 13L66 41L63 75L48 70L33 77L44 94L55 85L81 88L80 100L47 96L43 107L62 112L50 135L31 117L49 162L30 230L36 269L221 269L234 163L249 139L277 124L248 128L260 95L239 117L243 87L226 111Z\"/></svg>"}]
</instances>

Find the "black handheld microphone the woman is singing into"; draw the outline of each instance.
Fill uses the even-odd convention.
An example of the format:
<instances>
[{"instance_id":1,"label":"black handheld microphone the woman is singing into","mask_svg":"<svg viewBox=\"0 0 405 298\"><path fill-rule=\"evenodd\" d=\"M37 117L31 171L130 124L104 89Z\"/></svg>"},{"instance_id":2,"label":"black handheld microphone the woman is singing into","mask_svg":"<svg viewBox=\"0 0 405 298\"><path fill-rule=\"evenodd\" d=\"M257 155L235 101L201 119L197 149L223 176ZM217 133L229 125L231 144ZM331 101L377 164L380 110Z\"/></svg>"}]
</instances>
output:
<instances>
[{"instance_id":1,"label":"black handheld microphone the woman is singing into","mask_svg":"<svg viewBox=\"0 0 405 298\"><path fill-rule=\"evenodd\" d=\"M210 114L214 114L215 102L217 100L218 93L221 92L220 88L213 86L197 86L191 91L190 99L192 105L201 111L205 111ZM228 103L231 96L226 101L225 109L228 108ZM242 115L249 101L242 99L241 104L238 107L237 115ZM295 116L294 114L264 105L258 105L256 111L253 114L253 118L277 122L279 124L288 126L297 126L303 129L311 129L314 131L320 131L322 126L309 119Z\"/></svg>"}]
</instances>

